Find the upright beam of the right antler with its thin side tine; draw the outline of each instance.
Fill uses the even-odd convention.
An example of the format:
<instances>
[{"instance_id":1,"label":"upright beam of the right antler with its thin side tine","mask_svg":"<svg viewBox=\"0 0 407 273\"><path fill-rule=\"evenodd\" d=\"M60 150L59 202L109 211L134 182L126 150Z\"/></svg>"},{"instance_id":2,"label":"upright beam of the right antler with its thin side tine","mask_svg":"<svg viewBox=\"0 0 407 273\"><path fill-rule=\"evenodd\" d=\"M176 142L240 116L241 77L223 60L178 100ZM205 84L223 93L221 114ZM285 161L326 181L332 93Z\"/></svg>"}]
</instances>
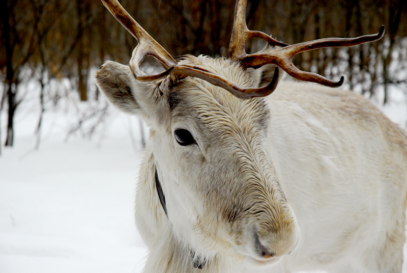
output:
<instances>
[{"instance_id":1,"label":"upright beam of the right antler with its thin side tine","mask_svg":"<svg viewBox=\"0 0 407 273\"><path fill-rule=\"evenodd\" d=\"M238 0L235 6L235 19L233 22L232 35L229 43L228 57L232 60L240 61L247 56L245 51L245 43L249 38L260 38L266 40L269 44L274 46L287 46L288 44L279 42L271 36L259 32L250 31L246 25L246 7L247 0Z\"/></svg>"}]
</instances>

